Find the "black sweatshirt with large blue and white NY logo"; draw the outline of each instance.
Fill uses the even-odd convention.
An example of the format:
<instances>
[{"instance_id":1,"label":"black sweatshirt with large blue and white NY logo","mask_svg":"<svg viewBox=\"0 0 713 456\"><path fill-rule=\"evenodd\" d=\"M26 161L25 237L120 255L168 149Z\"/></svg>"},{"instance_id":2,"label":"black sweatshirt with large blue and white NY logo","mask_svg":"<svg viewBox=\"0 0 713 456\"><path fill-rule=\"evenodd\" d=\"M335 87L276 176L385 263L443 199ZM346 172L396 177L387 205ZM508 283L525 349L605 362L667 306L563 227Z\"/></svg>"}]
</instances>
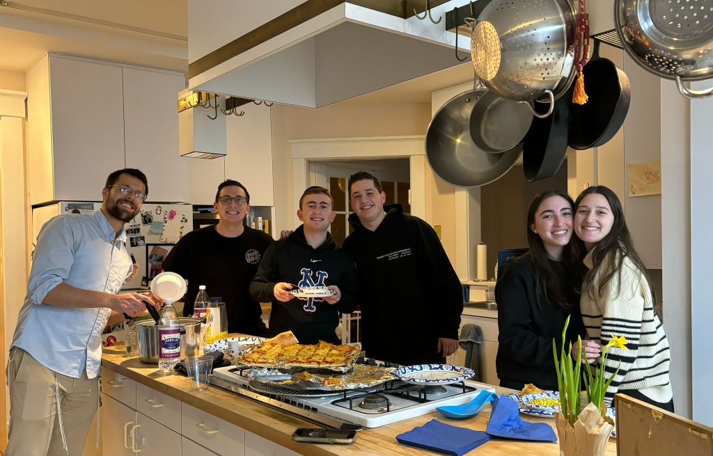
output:
<instances>
[{"instance_id":1,"label":"black sweatshirt with large blue and white NY logo","mask_svg":"<svg viewBox=\"0 0 713 456\"><path fill-rule=\"evenodd\" d=\"M281 302L275 299L277 282L300 287L337 285L342 296L337 304L328 304L322 298L296 297ZM292 331L300 344L317 344L320 340L339 344L334 332L339 313L349 314L356 309L354 262L329 233L322 245L312 248L301 225L289 238L277 240L265 250L250 284L250 295L259 302L272 302L268 328L271 337Z\"/></svg>"}]
</instances>

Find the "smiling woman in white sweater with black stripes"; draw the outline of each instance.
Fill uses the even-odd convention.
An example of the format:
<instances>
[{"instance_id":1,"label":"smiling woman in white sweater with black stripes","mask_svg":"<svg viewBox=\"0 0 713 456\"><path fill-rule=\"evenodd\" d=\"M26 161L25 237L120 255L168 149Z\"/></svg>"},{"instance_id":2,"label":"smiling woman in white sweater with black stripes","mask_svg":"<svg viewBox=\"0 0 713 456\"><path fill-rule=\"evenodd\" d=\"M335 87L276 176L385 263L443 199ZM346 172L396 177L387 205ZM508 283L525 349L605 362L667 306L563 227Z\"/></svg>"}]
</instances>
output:
<instances>
[{"instance_id":1,"label":"smiling woman in white sweater with black stripes","mask_svg":"<svg viewBox=\"0 0 713 456\"><path fill-rule=\"evenodd\" d=\"M583 191L575 201L574 230L582 240L575 251L586 267L580 309L587 344L606 344L612 335L627 339L627 349L611 346L607 351L606 376L619 369L607 400L624 393L673 411L668 339L615 193L605 186Z\"/></svg>"}]
</instances>

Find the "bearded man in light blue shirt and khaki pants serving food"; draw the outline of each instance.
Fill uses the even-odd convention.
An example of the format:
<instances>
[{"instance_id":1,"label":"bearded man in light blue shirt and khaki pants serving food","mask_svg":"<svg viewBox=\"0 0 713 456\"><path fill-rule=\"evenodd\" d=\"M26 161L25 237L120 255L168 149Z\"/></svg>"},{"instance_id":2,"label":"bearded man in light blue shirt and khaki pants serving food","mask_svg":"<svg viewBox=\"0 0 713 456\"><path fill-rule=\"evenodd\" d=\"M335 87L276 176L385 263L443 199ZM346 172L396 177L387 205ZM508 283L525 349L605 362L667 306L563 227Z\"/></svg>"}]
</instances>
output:
<instances>
[{"instance_id":1,"label":"bearded man in light blue shirt and khaki pants serving food","mask_svg":"<svg viewBox=\"0 0 713 456\"><path fill-rule=\"evenodd\" d=\"M124 223L147 193L143 172L114 171L101 211L57 216L40 230L10 349L5 455L82 454L98 411L101 332L156 305L118 293L132 270Z\"/></svg>"}]
</instances>

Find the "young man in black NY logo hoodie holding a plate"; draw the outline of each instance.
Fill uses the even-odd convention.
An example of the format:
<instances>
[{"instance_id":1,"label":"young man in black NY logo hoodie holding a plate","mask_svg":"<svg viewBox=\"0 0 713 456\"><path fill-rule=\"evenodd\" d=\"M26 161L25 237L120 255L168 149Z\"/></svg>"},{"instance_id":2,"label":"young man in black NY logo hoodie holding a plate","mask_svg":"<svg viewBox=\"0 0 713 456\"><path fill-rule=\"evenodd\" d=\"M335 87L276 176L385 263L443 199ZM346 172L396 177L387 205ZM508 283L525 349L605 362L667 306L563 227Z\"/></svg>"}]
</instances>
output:
<instances>
[{"instance_id":1,"label":"young man in black NY logo hoodie holding a plate","mask_svg":"<svg viewBox=\"0 0 713 456\"><path fill-rule=\"evenodd\" d=\"M356 309L354 262L327 231L337 215L332 207L329 190L309 187L299 198L297 217L302 225L265 251L250 295L259 302L272 301L271 337L292 331L301 344L320 340L339 344L335 332L339 314ZM328 287L334 295L297 299L288 292L292 284Z\"/></svg>"}]
</instances>

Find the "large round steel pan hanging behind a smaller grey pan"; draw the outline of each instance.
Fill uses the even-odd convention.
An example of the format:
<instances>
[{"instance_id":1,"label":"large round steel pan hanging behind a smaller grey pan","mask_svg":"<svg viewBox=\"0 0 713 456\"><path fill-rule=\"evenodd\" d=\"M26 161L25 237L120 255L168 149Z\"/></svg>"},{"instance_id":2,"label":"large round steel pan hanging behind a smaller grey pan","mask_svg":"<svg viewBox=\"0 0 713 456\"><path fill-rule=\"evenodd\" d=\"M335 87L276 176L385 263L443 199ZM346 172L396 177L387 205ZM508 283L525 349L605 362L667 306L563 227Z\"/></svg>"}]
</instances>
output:
<instances>
[{"instance_id":1,"label":"large round steel pan hanging behind a smaller grey pan","mask_svg":"<svg viewBox=\"0 0 713 456\"><path fill-rule=\"evenodd\" d=\"M522 144L491 154L473 143L471 113L486 89L468 90L448 100L436 112L426 132L426 159L434 173L448 184L478 187L506 174L522 151Z\"/></svg>"}]
</instances>

